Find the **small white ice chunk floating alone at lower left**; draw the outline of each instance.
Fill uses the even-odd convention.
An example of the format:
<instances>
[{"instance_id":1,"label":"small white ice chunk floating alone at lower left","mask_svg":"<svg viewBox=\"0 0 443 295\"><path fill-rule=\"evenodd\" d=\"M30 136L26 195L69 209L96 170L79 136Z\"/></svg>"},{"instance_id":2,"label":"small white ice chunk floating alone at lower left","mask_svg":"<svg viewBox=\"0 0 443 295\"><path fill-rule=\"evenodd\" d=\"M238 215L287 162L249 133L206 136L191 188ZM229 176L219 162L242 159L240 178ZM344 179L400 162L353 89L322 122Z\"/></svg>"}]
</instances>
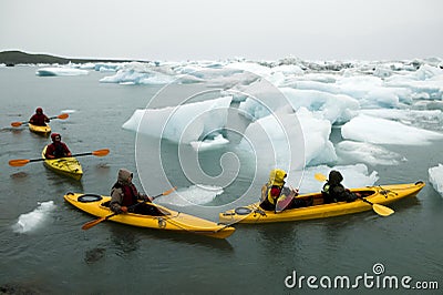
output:
<instances>
[{"instance_id":1,"label":"small white ice chunk floating alone at lower left","mask_svg":"<svg viewBox=\"0 0 443 295\"><path fill-rule=\"evenodd\" d=\"M19 221L12 226L16 233L27 233L41 226L48 214L55 207L53 201L39 203L39 206L25 214L21 214Z\"/></svg>"}]
</instances>

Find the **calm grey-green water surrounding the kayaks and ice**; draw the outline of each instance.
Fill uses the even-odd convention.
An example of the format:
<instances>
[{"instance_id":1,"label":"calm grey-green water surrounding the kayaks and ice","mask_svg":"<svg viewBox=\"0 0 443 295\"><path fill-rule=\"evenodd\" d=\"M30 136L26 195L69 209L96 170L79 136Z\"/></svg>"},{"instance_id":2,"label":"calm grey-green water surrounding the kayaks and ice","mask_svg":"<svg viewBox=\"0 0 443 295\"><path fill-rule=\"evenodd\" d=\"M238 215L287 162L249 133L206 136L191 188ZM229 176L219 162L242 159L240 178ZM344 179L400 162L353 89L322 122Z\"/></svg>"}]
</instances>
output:
<instances>
[{"instance_id":1,"label":"calm grey-green water surrounding the kayaks and ice","mask_svg":"<svg viewBox=\"0 0 443 295\"><path fill-rule=\"evenodd\" d=\"M66 204L63 195L70 191L109 194L120 167L136 171L135 134L121 126L159 88L103 84L99 80L104 74L97 72L39 78L35 70L0 68L0 287L42 294L341 294L343 289L312 291L306 281L302 288L287 288L285 278L293 271L298 277L354 278L374 275L373 265L381 263L385 275L437 281L440 289L425 294L441 294L443 197L427 183L427 169L443 163L441 142L390 146L409 161L369 166L379 172L378 184L418 180L427 184L416 199L392 204L395 214L390 217L367 212L309 222L236 225L237 231L226 241L114 223L82 231L81 225L92 217ZM81 182L59 176L41 163L9 166L11 159L40 157L48 143L27 129L8 128L13 121L27 120L37 106L43 106L49 115L75 110L68 120L51 124L74 153L109 148L111 154L83 157ZM334 131L333 136L337 140L339 133ZM205 153L200 160L209 169L210 155ZM176 175L178 186L188 185ZM247 183L243 179L238 186ZM150 185L152 194L167 189L156 187L155 182ZM244 189L230 186L225 194L241 194ZM20 215L48 201L53 201L55 210L42 226L27 233L13 231ZM362 293L377 291L404 293L360 285Z\"/></svg>"}]
</instances>

